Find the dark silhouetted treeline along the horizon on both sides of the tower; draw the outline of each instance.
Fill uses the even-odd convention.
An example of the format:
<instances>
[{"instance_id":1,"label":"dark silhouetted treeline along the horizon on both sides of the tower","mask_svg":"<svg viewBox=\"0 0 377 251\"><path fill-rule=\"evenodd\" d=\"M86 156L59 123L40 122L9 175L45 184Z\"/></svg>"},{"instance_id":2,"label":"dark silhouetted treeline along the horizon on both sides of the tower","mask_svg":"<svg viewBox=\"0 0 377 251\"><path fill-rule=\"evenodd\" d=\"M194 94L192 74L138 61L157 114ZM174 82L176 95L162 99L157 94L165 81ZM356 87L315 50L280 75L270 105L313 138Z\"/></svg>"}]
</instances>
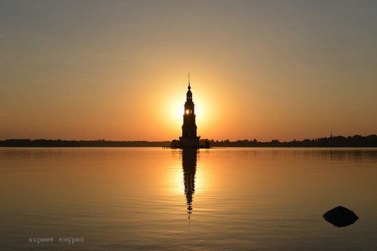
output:
<instances>
[{"instance_id":1,"label":"dark silhouetted treeline along the horizon on both sides of the tower","mask_svg":"<svg viewBox=\"0 0 377 251\"><path fill-rule=\"evenodd\" d=\"M304 139L303 141L283 141L277 139L269 142L254 140L215 141L201 139L200 144L209 141L211 147L377 147L377 135L369 136L330 136L318 139ZM64 141L60 139L6 139L0 141L0 147L162 147L171 145L171 141Z\"/></svg>"}]
</instances>

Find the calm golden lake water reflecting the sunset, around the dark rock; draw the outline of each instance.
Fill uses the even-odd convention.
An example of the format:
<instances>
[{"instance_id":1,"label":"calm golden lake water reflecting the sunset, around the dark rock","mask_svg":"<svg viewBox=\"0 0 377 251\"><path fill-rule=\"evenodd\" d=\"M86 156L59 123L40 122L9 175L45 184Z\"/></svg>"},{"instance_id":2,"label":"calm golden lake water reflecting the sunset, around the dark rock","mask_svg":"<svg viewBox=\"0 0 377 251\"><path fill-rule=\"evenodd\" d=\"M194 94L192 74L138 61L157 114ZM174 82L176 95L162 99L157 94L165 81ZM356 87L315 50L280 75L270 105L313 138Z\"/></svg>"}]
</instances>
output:
<instances>
[{"instance_id":1,"label":"calm golden lake water reflecting the sunset, around the dark rock","mask_svg":"<svg viewBox=\"0 0 377 251\"><path fill-rule=\"evenodd\" d=\"M0 148L0 249L377 250L376 178L368 149Z\"/></svg>"}]
</instances>

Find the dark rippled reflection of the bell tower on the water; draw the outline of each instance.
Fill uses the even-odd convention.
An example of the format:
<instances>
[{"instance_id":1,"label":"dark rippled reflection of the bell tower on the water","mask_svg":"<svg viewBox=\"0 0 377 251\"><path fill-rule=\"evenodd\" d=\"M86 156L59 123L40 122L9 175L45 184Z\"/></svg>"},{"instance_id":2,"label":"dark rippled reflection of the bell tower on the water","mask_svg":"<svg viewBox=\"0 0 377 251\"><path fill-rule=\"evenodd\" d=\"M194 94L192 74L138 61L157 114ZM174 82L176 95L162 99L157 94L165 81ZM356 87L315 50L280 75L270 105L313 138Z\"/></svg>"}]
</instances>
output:
<instances>
[{"instance_id":1,"label":"dark rippled reflection of the bell tower on the water","mask_svg":"<svg viewBox=\"0 0 377 251\"><path fill-rule=\"evenodd\" d=\"M197 149L182 150L184 194L186 195L187 213L189 213L189 219L191 213L193 213L193 194L195 193L197 151Z\"/></svg>"}]
</instances>

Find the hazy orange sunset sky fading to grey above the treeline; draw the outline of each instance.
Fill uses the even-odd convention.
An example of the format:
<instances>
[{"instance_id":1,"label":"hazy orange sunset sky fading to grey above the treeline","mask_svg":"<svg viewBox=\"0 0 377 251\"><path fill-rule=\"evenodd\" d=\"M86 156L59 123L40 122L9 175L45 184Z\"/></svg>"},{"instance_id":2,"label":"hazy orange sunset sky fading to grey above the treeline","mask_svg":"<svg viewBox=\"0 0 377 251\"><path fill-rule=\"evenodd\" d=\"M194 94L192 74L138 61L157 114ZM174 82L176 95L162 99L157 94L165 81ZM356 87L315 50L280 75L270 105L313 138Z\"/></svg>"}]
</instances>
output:
<instances>
[{"instance_id":1,"label":"hazy orange sunset sky fading to grey above the treeline","mask_svg":"<svg viewBox=\"0 0 377 251\"><path fill-rule=\"evenodd\" d=\"M0 1L0 139L377 133L377 1Z\"/></svg>"}]
</instances>

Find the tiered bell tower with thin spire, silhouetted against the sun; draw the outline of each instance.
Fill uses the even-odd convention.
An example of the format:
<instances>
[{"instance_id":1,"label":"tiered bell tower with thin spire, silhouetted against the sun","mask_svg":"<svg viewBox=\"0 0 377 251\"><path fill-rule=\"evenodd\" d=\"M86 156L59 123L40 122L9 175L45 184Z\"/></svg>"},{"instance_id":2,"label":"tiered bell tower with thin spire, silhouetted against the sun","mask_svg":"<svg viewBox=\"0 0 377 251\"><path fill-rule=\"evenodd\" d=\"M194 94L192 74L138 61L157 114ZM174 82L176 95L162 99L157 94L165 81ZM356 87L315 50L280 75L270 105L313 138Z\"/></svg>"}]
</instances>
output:
<instances>
[{"instance_id":1,"label":"tiered bell tower with thin spire, silhouetted against the sun","mask_svg":"<svg viewBox=\"0 0 377 251\"><path fill-rule=\"evenodd\" d=\"M182 136L180 137L180 147L199 148L200 136L197 136L197 126L195 123L195 104L193 102L193 93L191 93L190 73L189 73L189 91L186 93L186 102L184 103L184 115L182 125Z\"/></svg>"}]
</instances>

